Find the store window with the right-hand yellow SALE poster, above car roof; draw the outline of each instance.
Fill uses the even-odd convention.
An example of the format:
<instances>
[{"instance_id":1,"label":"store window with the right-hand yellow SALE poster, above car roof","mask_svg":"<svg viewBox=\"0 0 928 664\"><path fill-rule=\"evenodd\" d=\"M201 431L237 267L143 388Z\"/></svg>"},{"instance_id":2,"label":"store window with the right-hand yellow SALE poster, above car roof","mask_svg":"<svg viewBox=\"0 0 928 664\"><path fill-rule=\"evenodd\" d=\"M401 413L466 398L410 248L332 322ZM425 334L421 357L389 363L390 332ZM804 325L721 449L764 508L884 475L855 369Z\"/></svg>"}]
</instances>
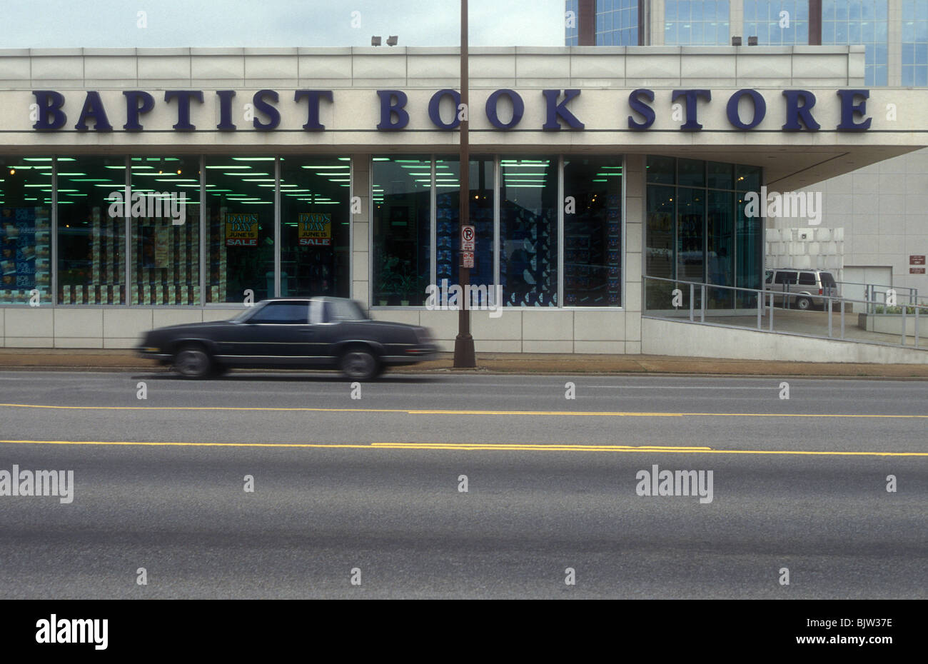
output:
<instances>
[{"instance_id":1,"label":"store window with the right-hand yellow SALE poster, above car roof","mask_svg":"<svg viewBox=\"0 0 928 664\"><path fill-rule=\"evenodd\" d=\"M348 157L280 158L280 294L351 293Z\"/></svg>"}]
</instances>

